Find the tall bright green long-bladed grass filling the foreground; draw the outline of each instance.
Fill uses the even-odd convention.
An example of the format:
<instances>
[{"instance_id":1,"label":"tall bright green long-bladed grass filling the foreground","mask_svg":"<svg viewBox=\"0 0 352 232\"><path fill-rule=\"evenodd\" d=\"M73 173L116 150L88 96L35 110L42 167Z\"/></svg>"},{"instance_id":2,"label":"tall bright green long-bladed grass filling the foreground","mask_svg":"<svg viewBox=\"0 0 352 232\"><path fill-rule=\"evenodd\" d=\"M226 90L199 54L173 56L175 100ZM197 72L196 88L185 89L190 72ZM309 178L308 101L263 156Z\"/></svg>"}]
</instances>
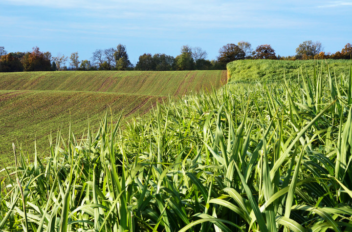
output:
<instances>
[{"instance_id":1,"label":"tall bright green long-bladed grass filling the foreground","mask_svg":"<svg viewBox=\"0 0 352 232\"><path fill-rule=\"evenodd\" d=\"M17 148L0 230L352 231L352 69L321 72L106 116L43 161Z\"/></svg>"}]
</instances>

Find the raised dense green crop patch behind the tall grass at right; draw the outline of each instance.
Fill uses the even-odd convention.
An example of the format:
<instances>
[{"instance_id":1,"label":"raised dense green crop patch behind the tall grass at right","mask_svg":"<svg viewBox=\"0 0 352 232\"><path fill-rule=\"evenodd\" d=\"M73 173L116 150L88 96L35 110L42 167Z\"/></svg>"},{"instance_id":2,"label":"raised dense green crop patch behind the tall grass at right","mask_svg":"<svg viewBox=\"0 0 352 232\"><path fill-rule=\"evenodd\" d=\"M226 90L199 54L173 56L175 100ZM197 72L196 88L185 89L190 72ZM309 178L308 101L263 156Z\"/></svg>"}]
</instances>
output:
<instances>
[{"instance_id":1,"label":"raised dense green crop patch behind the tall grass at right","mask_svg":"<svg viewBox=\"0 0 352 232\"><path fill-rule=\"evenodd\" d=\"M287 80L298 80L302 73L311 76L314 67L327 75L326 63L329 64L332 75L348 74L350 60L241 60L227 64L229 81L239 82L277 82L286 77ZM301 72L302 70L302 72Z\"/></svg>"}]
</instances>

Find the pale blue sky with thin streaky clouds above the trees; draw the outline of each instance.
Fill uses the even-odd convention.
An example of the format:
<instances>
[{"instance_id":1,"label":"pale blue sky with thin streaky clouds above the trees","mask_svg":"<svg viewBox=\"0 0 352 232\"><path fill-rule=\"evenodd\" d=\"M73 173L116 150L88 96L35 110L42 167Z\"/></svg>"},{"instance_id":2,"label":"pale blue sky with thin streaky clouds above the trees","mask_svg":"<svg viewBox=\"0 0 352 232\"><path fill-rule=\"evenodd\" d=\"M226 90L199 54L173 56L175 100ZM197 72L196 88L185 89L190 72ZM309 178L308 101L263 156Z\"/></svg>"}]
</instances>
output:
<instances>
[{"instance_id":1,"label":"pale blue sky with thin streaky clouds above the trees","mask_svg":"<svg viewBox=\"0 0 352 232\"><path fill-rule=\"evenodd\" d=\"M319 41L334 53L352 43L351 12L352 0L0 0L0 46L90 60L121 43L134 64L144 53L176 57L186 44L215 60L240 41L271 44L280 56Z\"/></svg>"}]
</instances>

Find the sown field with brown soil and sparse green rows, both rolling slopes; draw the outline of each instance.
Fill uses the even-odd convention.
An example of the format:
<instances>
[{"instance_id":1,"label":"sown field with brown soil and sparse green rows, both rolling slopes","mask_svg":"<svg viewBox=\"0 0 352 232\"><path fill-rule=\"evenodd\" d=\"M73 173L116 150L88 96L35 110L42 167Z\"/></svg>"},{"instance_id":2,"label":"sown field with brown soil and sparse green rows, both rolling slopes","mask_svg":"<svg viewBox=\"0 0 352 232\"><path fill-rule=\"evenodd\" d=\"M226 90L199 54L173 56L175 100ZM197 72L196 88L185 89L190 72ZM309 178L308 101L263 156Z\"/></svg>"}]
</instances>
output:
<instances>
[{"instance_id":1,"label":"sown field with brown soil and sparse green rows, both rolling slopes","mask_svg":"<svg viewBox=\"0 0 352 232\"><path fill-rule=\"evenodd\" d=\"M34 140L44 157L50 134L55 141L70 122L81 136L88 119L98 127L110 107L114 120L121 113L131 118L169 97L219 88L226 78L225 71L0 73L0 157L4 165L14 163L13 142L33 157Z\"/></svg>"}]
</instances>

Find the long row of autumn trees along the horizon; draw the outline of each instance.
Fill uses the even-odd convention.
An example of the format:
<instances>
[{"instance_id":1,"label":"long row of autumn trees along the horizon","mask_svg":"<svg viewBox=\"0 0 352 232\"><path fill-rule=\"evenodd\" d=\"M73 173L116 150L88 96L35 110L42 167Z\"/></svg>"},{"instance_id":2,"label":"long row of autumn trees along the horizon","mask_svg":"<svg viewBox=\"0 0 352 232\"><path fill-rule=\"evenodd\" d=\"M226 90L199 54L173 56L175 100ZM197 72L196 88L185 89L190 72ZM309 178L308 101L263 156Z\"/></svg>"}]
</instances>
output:
<instances>
[{"instance_id":1,"label":"long row of autumn trees along the horizon","mask_svg":"<svg viewBox=\"0 0 352 232\"><path fill-rule=\"evenodd\" d=\"M50 52L41 52L33 47L32 52L7 53L0 46L0 72L21 71L56 71L56 70L209 70L226 69L226 64L244 59L273 60L308 60L308 59L351 59L352 45L347 43L341 51L325 53L321 42L305 41L296 48L293 56L277 56L270 44L262 44L252 49L249 42L228 43L219 50L216 60L207 60L207 52L200 47L183 45L176 57L166 54L144 53L133 65L127 54L126 46L118 44L115 48L97 49L92 53L91 60L79 60L78 52L70 57L58 55L53 57ZM66 62L69 59L69 67Z\"/></svg>"}]
</instances>

